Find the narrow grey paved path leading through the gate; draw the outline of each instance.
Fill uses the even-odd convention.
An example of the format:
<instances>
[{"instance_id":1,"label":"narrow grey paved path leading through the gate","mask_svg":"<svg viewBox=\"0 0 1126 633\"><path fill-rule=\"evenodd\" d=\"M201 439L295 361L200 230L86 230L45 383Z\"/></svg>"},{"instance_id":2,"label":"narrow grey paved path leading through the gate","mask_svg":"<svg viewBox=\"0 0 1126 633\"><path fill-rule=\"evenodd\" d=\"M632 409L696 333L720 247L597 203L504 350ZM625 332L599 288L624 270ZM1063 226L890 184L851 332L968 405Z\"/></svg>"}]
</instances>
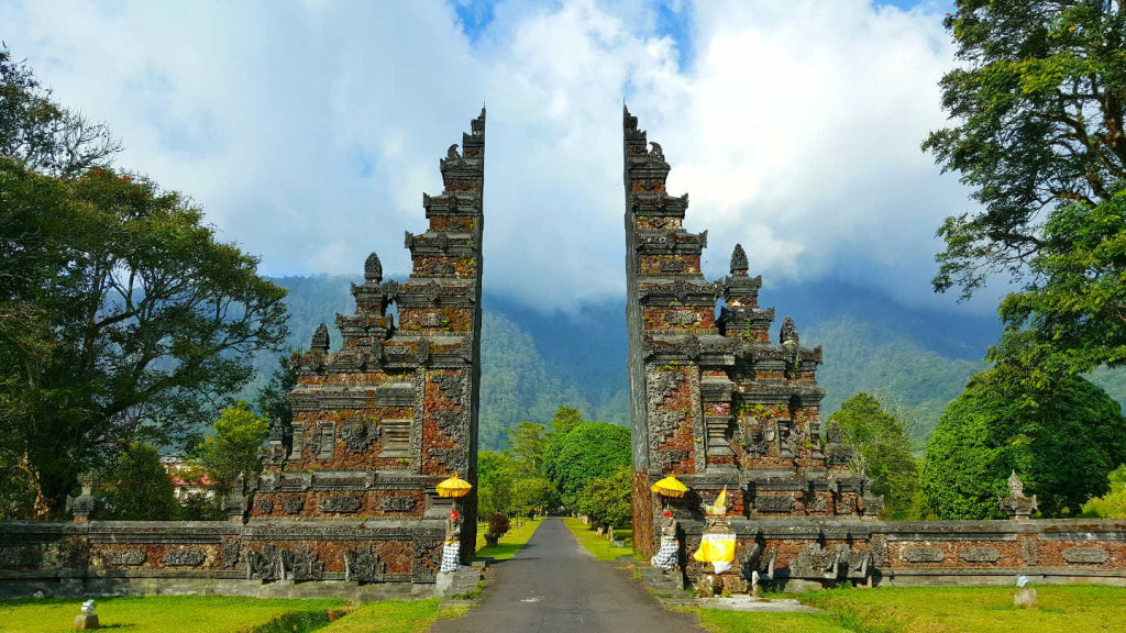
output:
<instances>
[{"instance_id":1,"label":"narrow grey paved path leading through the gate","mask_svg":"<svg viewBox=\"0 0 1126 633\"><path fill-rule=\"evenodd\" d=\"M597 561L560 519L497 563L481 605L432 633L699 633L696 616L649 595L629 570Z\"/></svg>"}]
</instances>

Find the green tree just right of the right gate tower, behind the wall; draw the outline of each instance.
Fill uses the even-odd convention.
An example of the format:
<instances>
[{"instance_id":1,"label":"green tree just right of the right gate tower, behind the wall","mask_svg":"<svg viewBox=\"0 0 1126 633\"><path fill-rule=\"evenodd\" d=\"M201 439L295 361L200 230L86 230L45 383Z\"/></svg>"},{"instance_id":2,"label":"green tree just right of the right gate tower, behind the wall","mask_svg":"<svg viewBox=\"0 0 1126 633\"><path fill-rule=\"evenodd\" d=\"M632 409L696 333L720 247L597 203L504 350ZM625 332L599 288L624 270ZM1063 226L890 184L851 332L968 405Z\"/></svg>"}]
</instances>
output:
<instances>
[{"instance_id":1,"label":"green tree just right of the right gate tower, behind the wall","mask_svg":"<svg viewBox=\"0 0 1126 633\"><path fill-rule=\"evenodd\" d=\"M882 516L914 518L911 515L919 482L918 464L900 420L884 412L875 398L858 393L841 403L829 421L840 426L846 442L856 449L857 466L872 478L872 491L883 494L886 506Z\"/></svg>"}]
</instances>

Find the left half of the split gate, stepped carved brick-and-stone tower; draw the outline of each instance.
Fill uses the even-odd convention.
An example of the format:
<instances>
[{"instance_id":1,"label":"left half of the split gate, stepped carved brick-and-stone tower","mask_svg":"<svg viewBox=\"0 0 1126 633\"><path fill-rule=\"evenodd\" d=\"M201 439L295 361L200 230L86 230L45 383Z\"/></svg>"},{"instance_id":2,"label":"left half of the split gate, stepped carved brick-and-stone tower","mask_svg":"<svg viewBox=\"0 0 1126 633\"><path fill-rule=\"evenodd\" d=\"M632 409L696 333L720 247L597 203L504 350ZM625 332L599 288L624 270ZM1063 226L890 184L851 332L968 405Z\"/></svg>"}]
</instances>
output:
<instances>
[{"instance_id":1,"label":"left half of the split gate, stepped carved brick-and-stone tower","mask_svg":"<svg viewBox=\"0 0 1126 633\"><path fill-rule=\"evenodd\" d=\"M476 485L484 142L482 109L461 153L452 145L440 161L445 191L422 196L430 226L406 233L410 278L384 280L372 253L364 283L352 285L356 313L337 315L339 350L331 350L322 323L310 350L294 357L293 437L270 430L250 525L363 520L385 573L432 580L453 507L435 485L455 472ZM475 489L459 507L468 556L476 541ZM343 564L334 552L320 559Z\"/></svg>"}]
</instances>

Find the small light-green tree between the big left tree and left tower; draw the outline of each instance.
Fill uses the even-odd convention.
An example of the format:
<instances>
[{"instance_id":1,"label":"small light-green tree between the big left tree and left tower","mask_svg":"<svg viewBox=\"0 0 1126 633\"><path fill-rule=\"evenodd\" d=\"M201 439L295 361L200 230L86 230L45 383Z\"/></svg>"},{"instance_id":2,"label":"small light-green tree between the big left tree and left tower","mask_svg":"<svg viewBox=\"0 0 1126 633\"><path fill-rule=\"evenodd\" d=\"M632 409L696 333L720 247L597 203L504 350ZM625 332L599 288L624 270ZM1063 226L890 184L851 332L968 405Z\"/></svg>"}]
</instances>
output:
<instances>
[{"instance_id":1,"label":"small light-green tree between the big left tree and left tower","mask_svg":"<svg viewBox=\"0 0 1126 633\"><path fill-rule=\"evenodd\" d=\"M261 472L258 449L266 440L269 422L240 400L223 409L212 428L214 433L196 446L191 462L207 472L215 490L225 497L240 476L245 485L251 473Z\"/></svg>"}]
</instances>

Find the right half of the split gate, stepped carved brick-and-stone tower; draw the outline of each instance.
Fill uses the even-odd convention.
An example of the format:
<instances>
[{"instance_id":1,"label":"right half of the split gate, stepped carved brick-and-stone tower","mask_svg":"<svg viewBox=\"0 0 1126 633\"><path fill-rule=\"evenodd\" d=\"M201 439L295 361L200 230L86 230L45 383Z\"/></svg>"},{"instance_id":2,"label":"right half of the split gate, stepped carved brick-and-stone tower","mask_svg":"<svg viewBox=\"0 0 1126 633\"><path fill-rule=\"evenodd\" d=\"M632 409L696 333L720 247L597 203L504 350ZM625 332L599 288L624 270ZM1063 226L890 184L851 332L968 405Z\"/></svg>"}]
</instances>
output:
<instances>
[{"instance_id":1,"label":"right half of the split gate, stepped carved brick-and-stone tower","mask_svg":"<svg viewBox=\"0 0 1126 633\"><path fill-rule=\"evenodd\" d=\"M672 501L689 551L700 502L723 487L732 517L874 515L881 500L848 469L841 434L830 429L822 445L821 348L803 348L788 318L770 342L774 309L759 307L761 277L748 276L742 247L731 276L704 278L707 232L683 229L687 194L665 191L664 153L628 110L623 130L635 549L652 554L663 501L650 485L668 474L691 490Z\"/></svg>"}]
</instances>

